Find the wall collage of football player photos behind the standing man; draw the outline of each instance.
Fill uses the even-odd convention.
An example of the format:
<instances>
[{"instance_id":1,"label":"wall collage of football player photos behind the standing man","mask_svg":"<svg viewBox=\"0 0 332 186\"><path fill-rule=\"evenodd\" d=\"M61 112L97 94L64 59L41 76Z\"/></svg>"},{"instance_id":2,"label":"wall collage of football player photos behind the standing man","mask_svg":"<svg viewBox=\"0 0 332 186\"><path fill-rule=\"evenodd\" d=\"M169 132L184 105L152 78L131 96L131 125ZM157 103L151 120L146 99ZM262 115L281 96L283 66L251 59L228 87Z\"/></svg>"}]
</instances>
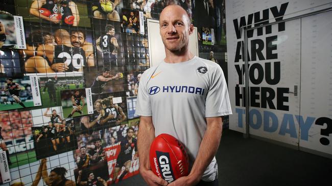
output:
<instances>
[{"instance_id":1,"label":"wall collage of football player photos behind the standing man","mask_svg":"<svg viewBox=\"0 0 332 186\"><path fill-rule=\"evenodd\" d=\"M106 186L138 174L146 20L182 6L204 30L200 55L218 58L222 4L207 2L208 25L189 0L0 0L0 185L53 185L57 174Z\"/></svg>"}]
</instances>

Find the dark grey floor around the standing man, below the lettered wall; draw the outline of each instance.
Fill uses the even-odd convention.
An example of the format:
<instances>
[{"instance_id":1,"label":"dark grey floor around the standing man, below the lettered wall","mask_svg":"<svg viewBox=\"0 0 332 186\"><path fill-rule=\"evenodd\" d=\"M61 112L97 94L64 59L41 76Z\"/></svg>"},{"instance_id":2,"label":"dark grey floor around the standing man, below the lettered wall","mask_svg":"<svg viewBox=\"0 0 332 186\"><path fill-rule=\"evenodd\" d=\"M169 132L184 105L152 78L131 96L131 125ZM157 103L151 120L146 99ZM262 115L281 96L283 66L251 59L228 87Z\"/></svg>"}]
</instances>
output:
<instances>
[{"instance_id":1,"label":"dark grey floor around the standing man, below the lettered wall","mask_svg":"<svg viewBox=\"0 0 332 186\"><path fill-rule=\"evenodd\" d=\"M332 185L332 160L224 130L216 155L219 185ZM147 185L140 175L116 185Z\"/></svg>"}]
</instances>

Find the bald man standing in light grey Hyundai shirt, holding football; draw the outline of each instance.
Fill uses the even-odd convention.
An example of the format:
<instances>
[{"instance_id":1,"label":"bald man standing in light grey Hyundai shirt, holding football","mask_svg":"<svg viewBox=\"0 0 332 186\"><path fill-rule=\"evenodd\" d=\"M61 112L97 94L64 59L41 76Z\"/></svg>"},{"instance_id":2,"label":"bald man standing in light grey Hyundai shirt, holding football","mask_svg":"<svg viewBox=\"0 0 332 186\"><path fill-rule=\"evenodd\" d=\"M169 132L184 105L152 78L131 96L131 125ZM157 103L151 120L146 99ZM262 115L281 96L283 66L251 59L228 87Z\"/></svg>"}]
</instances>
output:
<instances>
[{"instance_id":1,"label":"bald man standing in light grey Hyundai shirt, holding football","mask_svg":"<svg viewBox=\"0 0 332 186\"><path fill-rule=\"evenodd\" d=\"M173 185L218 185L215 154L222 133L222 115L231 114L228 90L218 64L188 49L193 24L187 12L170 5L160 14L160 36L166 57L141 76L136 114L139 172L149 185L167 185L150 169L155 136L167 133L181 141L189 157L189 175ZM162 105L162 107L160 107Z\"/></svg>"}]
</instances>

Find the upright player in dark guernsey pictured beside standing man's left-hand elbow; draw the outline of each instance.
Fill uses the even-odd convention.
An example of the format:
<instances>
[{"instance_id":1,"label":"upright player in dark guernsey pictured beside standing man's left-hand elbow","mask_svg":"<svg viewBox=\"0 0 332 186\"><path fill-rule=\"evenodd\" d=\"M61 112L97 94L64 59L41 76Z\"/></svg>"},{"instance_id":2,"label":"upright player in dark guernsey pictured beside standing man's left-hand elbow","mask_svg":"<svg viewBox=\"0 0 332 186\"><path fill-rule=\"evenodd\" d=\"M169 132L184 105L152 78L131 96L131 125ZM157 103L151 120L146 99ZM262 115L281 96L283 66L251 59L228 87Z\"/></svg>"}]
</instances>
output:
<instances>
[{"instance_id":1,"label":"upright player in dark guernsey pictured beside standing man's left-hand elbow","mask_svg":"<svg viewBox=\"0 0 332 186\"><path fill-rule=\"evenodd\" d=\"M135 149L135 152L137 152L137 140L133 138L134 129L132 127L129 127L127 129L127 137L123 138L120 142L121 145L121 151L120 154L118 154L118 157L116 159L116 165L114 168L114 175L113 175L113 182L115 182L118 173L120 173L121 168L125 166L125 171L121 174L121 176L118 178L119 181L121 181L125 175L128 173L130 166L131 166L131 159L132 159L132 153ZM137 159L137 153L134 155L134 159Z\"/></svg>"}]
</instances>

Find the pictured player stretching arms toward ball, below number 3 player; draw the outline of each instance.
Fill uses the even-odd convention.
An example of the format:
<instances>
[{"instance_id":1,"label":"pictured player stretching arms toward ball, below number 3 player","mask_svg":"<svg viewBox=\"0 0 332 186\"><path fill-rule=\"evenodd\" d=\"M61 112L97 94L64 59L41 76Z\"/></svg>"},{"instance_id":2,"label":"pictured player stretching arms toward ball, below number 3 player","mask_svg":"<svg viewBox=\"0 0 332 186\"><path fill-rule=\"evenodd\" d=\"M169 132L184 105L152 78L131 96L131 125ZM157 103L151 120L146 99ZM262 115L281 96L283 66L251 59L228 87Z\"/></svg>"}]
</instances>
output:
<instances>
[{"instance_id":1,"label":"pictured player stretching arms toward ball, below number 3 player","mask_svg":"<svg viewBox=\"0 0 332 186\"><path fill-rule=\"evenodd\" d=\"M94 78L90 88L92 94L101 94L106 83L110 80L120 78L121 74L117 73L115 76L111 75L111 71L108 68L104 68L101 74L97 74Z\"/></svg>"}]
</instances>

